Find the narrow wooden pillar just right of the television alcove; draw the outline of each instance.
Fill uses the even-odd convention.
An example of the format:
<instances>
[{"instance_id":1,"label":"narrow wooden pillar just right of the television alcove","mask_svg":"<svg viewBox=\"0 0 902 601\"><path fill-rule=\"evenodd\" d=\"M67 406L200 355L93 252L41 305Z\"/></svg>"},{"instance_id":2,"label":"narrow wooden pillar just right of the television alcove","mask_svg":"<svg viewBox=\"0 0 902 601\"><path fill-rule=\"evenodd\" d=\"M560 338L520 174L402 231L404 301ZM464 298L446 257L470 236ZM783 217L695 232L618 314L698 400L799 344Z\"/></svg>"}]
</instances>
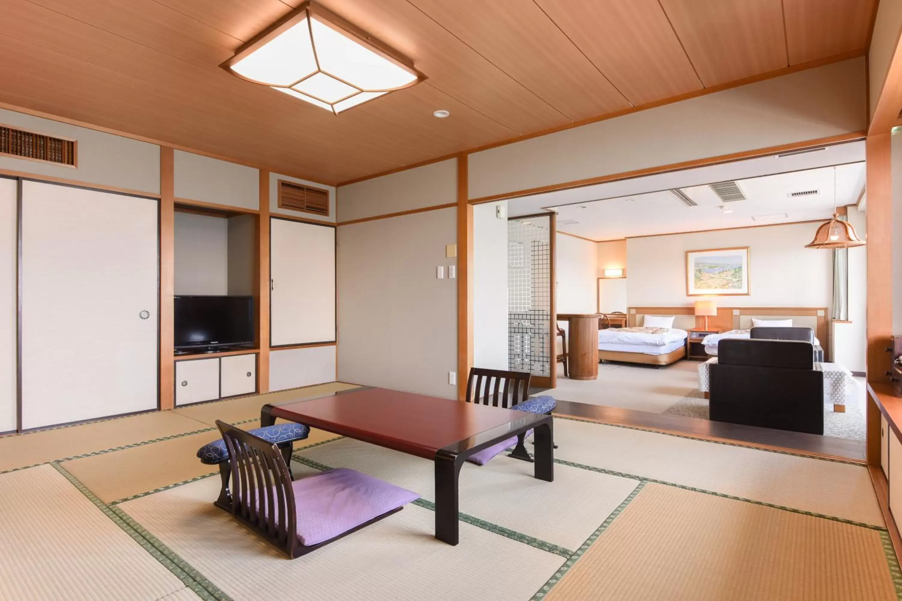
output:
<instances>
[{"instance_id":1,"label":"narrow wooden pillar just right of the television alcove","mask_svg":"<svg viewBox=\"0 0 902 601\"><path fill-rule=\"evenodd\" d=\"M260 215L257 220L257 278L253 282L257 324L257 392L270 391L270 172L260 171Z\"/></svg>"}]
</instances>

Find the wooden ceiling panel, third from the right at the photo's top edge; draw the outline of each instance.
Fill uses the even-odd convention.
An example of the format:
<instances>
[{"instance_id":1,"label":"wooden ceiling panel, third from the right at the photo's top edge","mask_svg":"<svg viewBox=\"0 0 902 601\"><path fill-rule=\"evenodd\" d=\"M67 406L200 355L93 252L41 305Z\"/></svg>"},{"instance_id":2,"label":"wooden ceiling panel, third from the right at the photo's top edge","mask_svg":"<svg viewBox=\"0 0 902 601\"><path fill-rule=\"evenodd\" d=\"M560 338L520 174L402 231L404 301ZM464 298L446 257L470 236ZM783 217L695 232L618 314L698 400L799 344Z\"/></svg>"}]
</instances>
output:
<instances>
[{"instance_id":1,"label":"wooden ceiling panel, third from the right at the photo's top edge","mask_svg":"<svg viewBox=\"0 0 902 601\"><path fill-rule=\"evenodd\" d=\"M633 105L702 88L658 0L536 0Z\"/></svg>"}]
</instances>

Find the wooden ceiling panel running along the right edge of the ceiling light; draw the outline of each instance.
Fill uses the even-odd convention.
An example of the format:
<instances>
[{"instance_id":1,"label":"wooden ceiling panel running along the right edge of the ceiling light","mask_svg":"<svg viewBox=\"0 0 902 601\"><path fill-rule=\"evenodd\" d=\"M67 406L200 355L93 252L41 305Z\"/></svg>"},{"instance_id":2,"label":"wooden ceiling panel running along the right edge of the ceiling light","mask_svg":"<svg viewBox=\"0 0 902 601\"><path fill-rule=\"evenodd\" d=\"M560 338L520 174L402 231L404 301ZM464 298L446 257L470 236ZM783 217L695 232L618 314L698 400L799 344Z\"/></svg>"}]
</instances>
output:
<instances>
[{"instance_id":1,"label":"wooden ceiling panel running along the right edge of the ceiling light","mask_svg":"<svg viewBox=\"0 0 902 601\"><path fill-rule=\"evenodd\" d=\"M515 132L537 132L569 121L407 0L321 4L412 59L431 86Z\"/></svg>"}]
</instances>

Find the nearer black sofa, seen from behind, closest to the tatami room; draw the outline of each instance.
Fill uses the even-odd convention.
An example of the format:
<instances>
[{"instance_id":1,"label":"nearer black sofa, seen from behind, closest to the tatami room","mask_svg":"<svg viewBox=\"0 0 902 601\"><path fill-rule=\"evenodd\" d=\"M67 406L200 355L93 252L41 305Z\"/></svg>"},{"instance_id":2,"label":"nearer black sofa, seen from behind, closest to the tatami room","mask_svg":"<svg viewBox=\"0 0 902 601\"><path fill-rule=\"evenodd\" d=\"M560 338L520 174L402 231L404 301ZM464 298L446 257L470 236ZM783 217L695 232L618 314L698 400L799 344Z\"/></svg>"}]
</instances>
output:
<instances>
[{"instance_id":1,"label":"nearer black sofa, seen from behind, closest to the tatami room","mask_svg":"<svg viewBox=\"0 0 902 601\"><path fill-rule=\"evenodd\" d=\"M811 342L724 339L717 351L713 421L824 433L824 373Z\"/></svg>"}]
</instances>

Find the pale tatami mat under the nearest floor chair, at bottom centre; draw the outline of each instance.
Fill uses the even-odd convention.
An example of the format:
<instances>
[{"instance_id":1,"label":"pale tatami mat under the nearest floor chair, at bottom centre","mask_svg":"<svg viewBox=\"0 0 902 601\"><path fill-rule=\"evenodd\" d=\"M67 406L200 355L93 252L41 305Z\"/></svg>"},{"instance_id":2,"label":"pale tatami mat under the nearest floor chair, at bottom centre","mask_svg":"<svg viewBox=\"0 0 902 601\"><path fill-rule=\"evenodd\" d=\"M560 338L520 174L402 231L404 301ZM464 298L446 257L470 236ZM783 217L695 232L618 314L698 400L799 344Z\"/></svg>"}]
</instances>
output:
<instances>
[{"instance_id":1,"label":"pale tatami mat under the nearest floor chair, at bottom centre","mask_svg":"<svg viewBox=\"0 0 902 601\"><path fill-rule=\"evenodd\" d=\"M460 544L434 536L435 514L398 514L299 560L287 560L211 503L216 478L119 505L236 600L524 601L564 559L470 524Z\"/></svg>"}]
</instances>

